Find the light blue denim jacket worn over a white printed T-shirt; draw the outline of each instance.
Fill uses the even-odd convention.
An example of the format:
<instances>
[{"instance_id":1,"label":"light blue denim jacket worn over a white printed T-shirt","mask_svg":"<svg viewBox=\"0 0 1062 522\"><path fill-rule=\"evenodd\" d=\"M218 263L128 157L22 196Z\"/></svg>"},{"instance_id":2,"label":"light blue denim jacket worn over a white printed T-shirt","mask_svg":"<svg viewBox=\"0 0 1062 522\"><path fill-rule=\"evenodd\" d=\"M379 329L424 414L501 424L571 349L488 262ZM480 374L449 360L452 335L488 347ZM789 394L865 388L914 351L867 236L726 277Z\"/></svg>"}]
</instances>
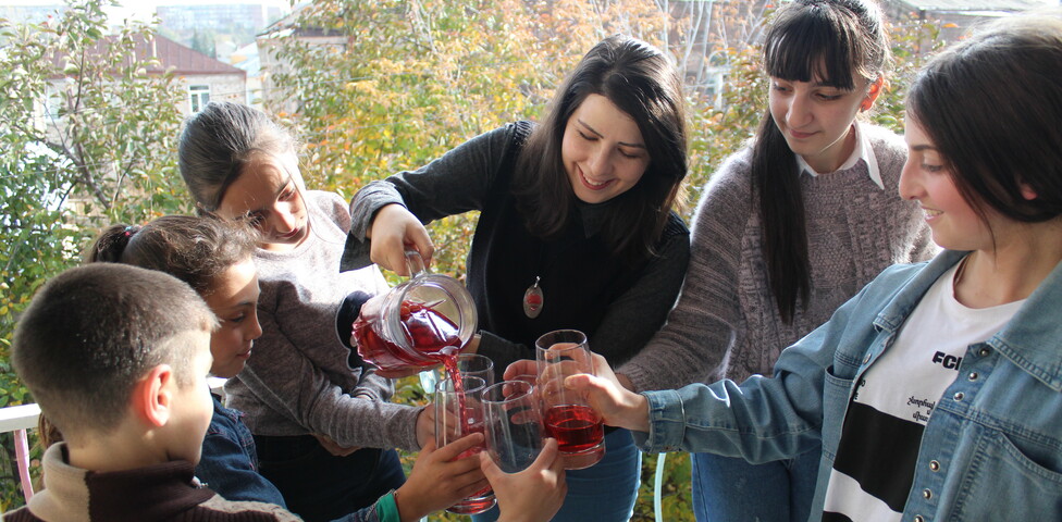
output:
<instances>
[{"instance_id":1,"label":"light blue denim jacket worn over a white printed T-shirt","mask_svg":"<svg viewBox=\"0 0 1062 522\"><path fill-rule=\"evenodd\" d=\"M775 364L775 377L646 391L645 451L750 462L822 442L811 520L822 520L844 414L863 373L964 252L882 272ZM1062 264L1011 321L966 349L925 427L903 521L1062 520Z\"/></svg>"}]
</instances>

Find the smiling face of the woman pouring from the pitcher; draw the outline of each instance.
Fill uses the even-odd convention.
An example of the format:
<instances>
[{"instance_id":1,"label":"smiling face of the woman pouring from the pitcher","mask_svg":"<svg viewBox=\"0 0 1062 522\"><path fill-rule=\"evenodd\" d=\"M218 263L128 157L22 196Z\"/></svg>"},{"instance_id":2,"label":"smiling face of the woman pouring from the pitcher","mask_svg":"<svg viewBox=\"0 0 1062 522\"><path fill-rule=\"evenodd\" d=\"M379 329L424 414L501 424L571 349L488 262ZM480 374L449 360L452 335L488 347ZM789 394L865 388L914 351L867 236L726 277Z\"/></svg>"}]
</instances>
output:
<instances>
[{"instance_id":1,"label":"smiling face of the woman pouring from the pitcher","mask_svg":"<svg viewBox=\"0 0 1062 522\"><path fill-rule=\"evenodd\" d=\"M586 203L630 190L650 162L638 124L601 95L588 96L568 119L560 156L571 189Z\"/></svg>"}]
</instances>

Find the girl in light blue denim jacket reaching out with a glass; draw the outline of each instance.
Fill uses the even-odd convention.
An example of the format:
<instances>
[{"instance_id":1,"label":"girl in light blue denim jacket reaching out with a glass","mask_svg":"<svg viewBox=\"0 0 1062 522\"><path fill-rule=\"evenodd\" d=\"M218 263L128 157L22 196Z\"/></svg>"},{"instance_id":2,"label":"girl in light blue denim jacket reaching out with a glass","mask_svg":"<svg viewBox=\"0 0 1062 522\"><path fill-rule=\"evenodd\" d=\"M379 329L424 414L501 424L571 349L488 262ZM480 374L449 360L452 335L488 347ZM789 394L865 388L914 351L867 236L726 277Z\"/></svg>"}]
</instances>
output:
<instances>
[{"instance_id":1,"label":"girl in light blue denim jacket reaching out with a glass","mask_svg":"<svg viewBox=\"0 0 1062 522\"><path fill-rule=\"evenodd\" d=\"M946 251L886 270L773 378L635 395L597 357L567 385L646 451L767 462L820 443L811 520L1062 520L1060 70L1052 11L919 73L900 194Z\"/></svg>"}]
</instances>

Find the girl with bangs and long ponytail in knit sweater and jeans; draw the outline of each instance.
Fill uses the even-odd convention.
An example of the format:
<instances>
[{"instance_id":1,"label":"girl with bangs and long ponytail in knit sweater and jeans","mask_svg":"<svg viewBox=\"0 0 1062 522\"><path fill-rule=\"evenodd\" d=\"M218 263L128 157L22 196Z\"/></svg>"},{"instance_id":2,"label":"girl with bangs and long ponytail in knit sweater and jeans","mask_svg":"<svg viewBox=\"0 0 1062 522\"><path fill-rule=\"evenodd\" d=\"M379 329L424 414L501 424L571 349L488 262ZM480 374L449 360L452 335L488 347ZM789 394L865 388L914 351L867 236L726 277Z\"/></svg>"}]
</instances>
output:
<instances>
[{"instance_id":1,"label":"girl with bangs and long ponytail in knit sweater and jeans","mask_svg":"<svg viewBox=\"0 0 1062 522\"><path fill-rule=\"evenodd\" d=\"M630 389L770 375L781 347L886 266L933 254L917 206L897 196L903 141L856 117L880 95L889 57L870 0L778 10L763 48L769 109L704 191L681 298L619 366ZM807 519L817 448L764 465L691 458L697 520Z\"/></svg>"}]
</instances>

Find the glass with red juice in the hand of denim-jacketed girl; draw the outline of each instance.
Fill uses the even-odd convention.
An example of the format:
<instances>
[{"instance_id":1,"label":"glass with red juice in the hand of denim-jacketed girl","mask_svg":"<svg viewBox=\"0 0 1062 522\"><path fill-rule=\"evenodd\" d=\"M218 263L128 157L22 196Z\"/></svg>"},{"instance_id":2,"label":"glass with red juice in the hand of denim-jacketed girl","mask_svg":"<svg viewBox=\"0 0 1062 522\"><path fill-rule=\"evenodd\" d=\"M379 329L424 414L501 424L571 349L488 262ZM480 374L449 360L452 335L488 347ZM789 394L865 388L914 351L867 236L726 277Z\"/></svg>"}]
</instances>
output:
<instances>
[{"instance_id":1,"label":"glass with red juice in the hand of denim-jacketed girl","mask_svg":"<svg viewBox=\"0 0 1062 522\"><path fill-rule=\"evenodd\" d=\"M539 397L546 435L556 438L565 469L581 470L605 456L605 428L586 397L565 388L564 380L594 374L586 335L578 330L557 330L535 341Z\"/></svg>"}]
</instances>

